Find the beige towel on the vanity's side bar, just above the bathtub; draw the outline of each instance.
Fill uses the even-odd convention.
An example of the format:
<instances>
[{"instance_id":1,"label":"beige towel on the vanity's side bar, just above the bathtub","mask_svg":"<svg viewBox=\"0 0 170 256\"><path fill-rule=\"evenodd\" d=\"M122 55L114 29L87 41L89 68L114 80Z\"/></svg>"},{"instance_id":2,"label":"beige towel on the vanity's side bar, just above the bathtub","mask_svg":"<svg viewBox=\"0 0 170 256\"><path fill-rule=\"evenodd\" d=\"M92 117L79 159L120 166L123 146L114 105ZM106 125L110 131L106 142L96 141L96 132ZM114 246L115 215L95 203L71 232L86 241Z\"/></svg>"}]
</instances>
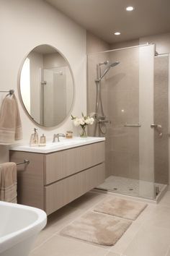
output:
<instances>
[{"instance_id":1,"label":"beige towel on the vanity's side bar, just above the bathtub","mask_svg":"<svg viewBox=\"0 0 170 256\"><path fill-rule=\"evenodd\" d=\"M0 164L0 200L5 202L17 202L16 163Z\"/></svg>"}]
</instances>

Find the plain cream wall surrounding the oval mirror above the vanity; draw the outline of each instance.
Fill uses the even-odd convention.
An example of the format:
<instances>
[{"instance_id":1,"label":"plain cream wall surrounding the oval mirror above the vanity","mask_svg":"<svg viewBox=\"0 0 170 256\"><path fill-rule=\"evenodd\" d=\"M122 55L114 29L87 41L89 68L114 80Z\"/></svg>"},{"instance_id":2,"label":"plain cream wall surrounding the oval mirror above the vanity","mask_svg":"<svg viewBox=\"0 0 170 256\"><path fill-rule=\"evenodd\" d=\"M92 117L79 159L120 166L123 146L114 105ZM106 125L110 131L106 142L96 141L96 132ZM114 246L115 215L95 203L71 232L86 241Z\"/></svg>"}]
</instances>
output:
<instances>
[{"instance_id":1,"label":"plain cream wall surrounding the oval mirror above the vanity","mask_svg":"<svg viewBox=\"0 0 170 256\"><path fill-rule=\"evenodd\" d=\"M0 0L0 3L1 90L14 89L19 101L17 83L22 61L35 46L49 44L71 64L76 92L71 113L75 116L81 115L81 111L86 113L86 30L44 1ZM36 125L24 113L20 101L19 110L24 140L28 142ZM55 129L37 128L39 135L45 133L50 140L54 133L77 130L70 116ZM0 161L6 161L8 148L0 150Z\"/></svg>"}]
</instances>

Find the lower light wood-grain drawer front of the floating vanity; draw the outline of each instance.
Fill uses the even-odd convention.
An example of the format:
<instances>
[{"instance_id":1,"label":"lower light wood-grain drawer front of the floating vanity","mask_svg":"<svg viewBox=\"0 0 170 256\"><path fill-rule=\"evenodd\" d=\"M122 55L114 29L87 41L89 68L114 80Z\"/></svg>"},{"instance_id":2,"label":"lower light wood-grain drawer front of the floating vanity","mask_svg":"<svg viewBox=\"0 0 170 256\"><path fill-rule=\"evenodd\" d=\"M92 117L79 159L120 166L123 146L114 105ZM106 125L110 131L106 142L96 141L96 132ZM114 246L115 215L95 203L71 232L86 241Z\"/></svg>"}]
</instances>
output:
<instances>
[{"instance_id":1,"label":"lower light wood-grain drawer front of the floating vanity","mask_svg":"<svg viewBox=\"0 0 170 256\"><path fill-rule=\"evenodd\" d=\"M45 211L49 215L104 182L104 163L45 186Z\"/></svg>"}]
</instances>

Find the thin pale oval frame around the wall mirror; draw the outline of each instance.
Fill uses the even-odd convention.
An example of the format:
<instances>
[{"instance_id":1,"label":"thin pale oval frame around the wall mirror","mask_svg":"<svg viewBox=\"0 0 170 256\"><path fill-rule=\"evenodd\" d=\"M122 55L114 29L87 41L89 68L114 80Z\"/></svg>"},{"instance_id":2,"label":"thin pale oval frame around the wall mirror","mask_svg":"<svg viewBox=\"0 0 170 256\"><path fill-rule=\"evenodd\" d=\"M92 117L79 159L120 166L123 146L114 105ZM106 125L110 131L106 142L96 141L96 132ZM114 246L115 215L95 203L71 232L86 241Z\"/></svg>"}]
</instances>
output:
<instances>
[{"instance_id":1,"label":"thin pale oval frame around the wall mirror","mask_svg":"<svg viewBox=\"0 0 170 256\"><path fill-rule=\"evenodd\" d=\"M21 72L22 72L22 67L24 65L24 61L27 59L27 56L37 47L37 46L50 46L52 48L55 49L55 51L58 52L58 54L61 54L61 56L63 57L63 59L65 59L66 63L68 64L68 68L71 72L71 77L72 77L72 80L73 80L73 100L72 100L72 103L71 103L71 107L70 107L70 110L68 111L68 114L66 115L66 117L63 119L63 121L61 121L61 123L55 125L54 127L45 127L39 123L37 123L37 121L35 121L35 119L33 119L33 117L30 115L30 113L27 111L27 108L24 106L24 101L22 99L22 93L21 93L21 90L20 90L20 81L21 81ZM61 126L65 121L66 119L68 119L69 116L71 116L71 111L73 110L73 106L74 106L74 103L75 103L75 98L76 98L76 90L75 90L75 80L74 80L74 77L73 77L73 71L71 69L71 65L69 64L68 62L68 59L66 59L66 57L61 53L61 51L59 51L57 48L55 48L54 46L51 46L50 44L48 43L42 43L42 44L38 44L37 46L35 46L34 48L32 48L31 51L29 51L26 56L24 56L24 59L19 67L19 72L18 72L18 93L19 93L19 100L20 102L22 103L22 107L24 109L24 113L27 114L27 116L29 117L29 119L37 125L37 127L41 127L42 129L54 129L55 127L59 127Z\"/></svg>"}]
</instances>

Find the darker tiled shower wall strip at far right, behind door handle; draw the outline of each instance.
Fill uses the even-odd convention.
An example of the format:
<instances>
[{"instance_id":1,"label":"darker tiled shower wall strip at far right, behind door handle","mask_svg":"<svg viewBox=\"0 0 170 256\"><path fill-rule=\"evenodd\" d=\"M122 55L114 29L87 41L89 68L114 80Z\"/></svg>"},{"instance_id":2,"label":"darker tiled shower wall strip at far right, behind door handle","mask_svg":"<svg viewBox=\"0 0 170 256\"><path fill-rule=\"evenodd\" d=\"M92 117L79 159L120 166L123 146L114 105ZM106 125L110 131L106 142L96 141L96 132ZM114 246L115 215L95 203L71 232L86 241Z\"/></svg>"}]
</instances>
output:
<instances>
[{"instance_id":1,"label":"darker tiled shower wall strip at far right, behind door handle","mask_svg":"<svg viewBox=\"0 0 170 256\"><path fill-rule=\"evenodd\" d=\"M163 137L154 132L155 182L167 184L169 179L169 55L155 57L154 122L161 124Z\"/></svg>"}]
</instances>

